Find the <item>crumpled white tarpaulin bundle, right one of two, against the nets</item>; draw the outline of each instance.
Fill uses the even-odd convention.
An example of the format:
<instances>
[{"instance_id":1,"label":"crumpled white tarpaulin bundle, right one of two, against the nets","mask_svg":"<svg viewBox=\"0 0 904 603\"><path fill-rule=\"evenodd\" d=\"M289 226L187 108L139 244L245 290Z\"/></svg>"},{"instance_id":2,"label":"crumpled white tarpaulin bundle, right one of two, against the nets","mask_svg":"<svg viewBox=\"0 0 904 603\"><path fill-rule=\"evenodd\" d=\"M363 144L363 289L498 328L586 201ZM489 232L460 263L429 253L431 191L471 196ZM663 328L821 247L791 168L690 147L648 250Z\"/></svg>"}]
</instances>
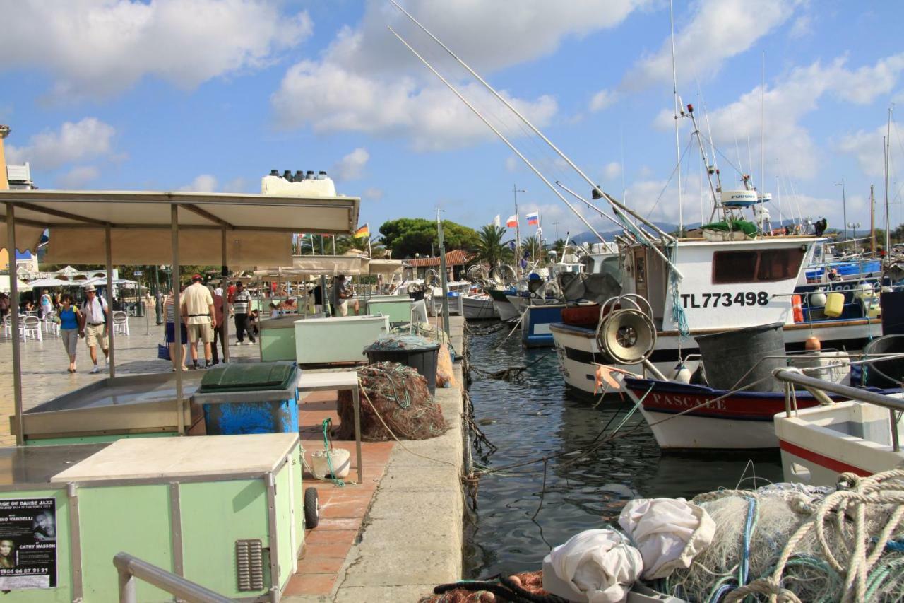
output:
<instances>
[{"instance_id":1,"label":"crumpled white tarpaulin bundle, right one of two, against the nets","mask_svg":"<svg viewBox=\"0 0 904 603\"><path fill-rule=\"evenodd\" d=\"M710 546L716 524L702 507L683 498L636 499L627 503L618 525L644 558L644 579L665 578L691 566Z\"/></svg>"}]
</instances>

